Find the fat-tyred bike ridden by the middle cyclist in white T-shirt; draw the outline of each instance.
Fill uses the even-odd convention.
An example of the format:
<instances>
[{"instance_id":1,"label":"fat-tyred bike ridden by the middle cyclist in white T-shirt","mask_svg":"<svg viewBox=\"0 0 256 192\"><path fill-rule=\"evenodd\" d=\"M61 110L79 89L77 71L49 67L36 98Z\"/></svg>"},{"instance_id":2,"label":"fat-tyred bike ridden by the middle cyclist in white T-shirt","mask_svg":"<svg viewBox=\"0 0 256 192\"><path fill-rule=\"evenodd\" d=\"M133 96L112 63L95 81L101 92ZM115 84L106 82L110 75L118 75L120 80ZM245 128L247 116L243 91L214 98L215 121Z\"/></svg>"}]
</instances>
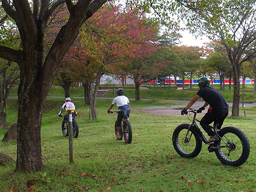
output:
<instances>
[{"instance_id":1,"label":"fat-tyred bike ridden by the middle cyclist in white T-shirt","mask_svg":"<svg viewBox=\"0 0 256 192\"><path fill-rule=\"evenodd\" d=\"M119 113L119 111L108 111L109 114ZM118 139L118 131L117 131L117 120L115 123L115 134L117 140L122 140L124 137L124 142L131 143L132 142L132 125L130 121L123 119L121 122L121 139Z\"/></svg>"}]
</instances>

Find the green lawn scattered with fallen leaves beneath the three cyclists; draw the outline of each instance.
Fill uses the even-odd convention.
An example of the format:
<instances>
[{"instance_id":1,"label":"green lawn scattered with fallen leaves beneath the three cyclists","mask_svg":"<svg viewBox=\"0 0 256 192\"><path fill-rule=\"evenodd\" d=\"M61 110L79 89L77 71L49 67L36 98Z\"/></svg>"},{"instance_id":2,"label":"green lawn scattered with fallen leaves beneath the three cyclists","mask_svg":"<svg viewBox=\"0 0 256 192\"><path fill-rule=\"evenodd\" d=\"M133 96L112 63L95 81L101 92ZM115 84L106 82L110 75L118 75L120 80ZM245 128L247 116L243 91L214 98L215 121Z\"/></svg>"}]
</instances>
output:
<instances>
[{"instance_id":1,"label":"green lawn scattered with fallen leaves beneath the three cyclists","mask_svg":"<svg viewBox=\"0 0 256 192\"><path fill-rule=\"evenodd\" d=\"M186 116L138 113L136 109L173 105L168 100L131 100L131 144L115 139L116 115L107 114L112 99L97 100L98 119L89 118L82 98L73 99L78 116L79 136L74 139L74 163L69 163L68 138L61 133L58 117L62 98L46 101L42 120L44 170L14 172L15 163L0 166L0 191L252 191L256 190L254 153L256 117L228 116L223 126L237 126L250 140L251 155L239 167L220 163L203 144L192 159L180 157L172 146L172 132L189 123ZM17 99L8 102L8 122L17 118ZM114 108L115 110L116 108ZM255 111L255 108L246 108ZM255 114L255 112L254 112ZM5 131L0 131L3 138ZM16 159L16 142L0 142L0 153ZM29 180L35 180L28 187ZM110 189L111 188L111 189ZM110 189L110 190L109 190Z\"/></svg>"}]
</instances>

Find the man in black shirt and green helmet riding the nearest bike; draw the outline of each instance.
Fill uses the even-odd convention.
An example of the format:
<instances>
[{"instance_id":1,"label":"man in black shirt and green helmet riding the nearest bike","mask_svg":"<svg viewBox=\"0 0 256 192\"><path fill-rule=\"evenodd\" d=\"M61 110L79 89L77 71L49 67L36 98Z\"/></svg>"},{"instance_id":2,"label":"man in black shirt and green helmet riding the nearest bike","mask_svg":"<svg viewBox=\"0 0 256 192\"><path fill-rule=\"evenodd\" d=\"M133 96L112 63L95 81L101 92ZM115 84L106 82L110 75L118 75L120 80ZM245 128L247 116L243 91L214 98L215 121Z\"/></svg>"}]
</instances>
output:
<instances>
[{"instance_id":1,"label":"man in black shirt and green helmet riding the nearest bike","mask_svg":"<svg viewBox=\"0 0 256 192\"><path fill-rule=\"evenodd\" d=\"M201 77L198 79L199 91L196 93L195 97L188 103L188 105L181 111L181 115L187 114L187 109L194 105L194 103L202 97L205 101L203 107L199 108L197 113L202 113L202 110L205 109L207 105L210 105L207 113L203 116L200 121L200 125L203 127L205 132L210 136L210 139L207 142L218 141L219 138L212 130L212 126L210 124L214 122L219 117L219 126L218 129L221 128L221 125L224 122L224 119L228 115L228 105L223 96L217 90L209 87L210 79L207 77Z\"/></svg>"}]
</instances>

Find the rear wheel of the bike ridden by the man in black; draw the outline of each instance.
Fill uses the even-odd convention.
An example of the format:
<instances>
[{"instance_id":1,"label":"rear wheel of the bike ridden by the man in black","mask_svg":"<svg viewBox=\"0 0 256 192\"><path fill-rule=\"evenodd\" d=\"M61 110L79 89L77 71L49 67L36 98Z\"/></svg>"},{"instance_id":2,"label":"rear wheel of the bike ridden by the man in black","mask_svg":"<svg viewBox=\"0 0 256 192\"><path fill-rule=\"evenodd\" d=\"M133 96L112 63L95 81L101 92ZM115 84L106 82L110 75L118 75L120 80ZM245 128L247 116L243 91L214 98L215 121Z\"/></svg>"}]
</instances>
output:
<instances>
[{"instance_id":1,"label":"rear wheel of the bike ridden by the man in black","mask_svg":"<svg viewBox=\"0 0 256 192\"><path fill-rule=\"evenodd\" d=\"M218 159L232 166L244 164L250 155L250 142L243 131L236 127L224 127L219 132L221 138L215 150Z\"/></svg>"}]
</instances>

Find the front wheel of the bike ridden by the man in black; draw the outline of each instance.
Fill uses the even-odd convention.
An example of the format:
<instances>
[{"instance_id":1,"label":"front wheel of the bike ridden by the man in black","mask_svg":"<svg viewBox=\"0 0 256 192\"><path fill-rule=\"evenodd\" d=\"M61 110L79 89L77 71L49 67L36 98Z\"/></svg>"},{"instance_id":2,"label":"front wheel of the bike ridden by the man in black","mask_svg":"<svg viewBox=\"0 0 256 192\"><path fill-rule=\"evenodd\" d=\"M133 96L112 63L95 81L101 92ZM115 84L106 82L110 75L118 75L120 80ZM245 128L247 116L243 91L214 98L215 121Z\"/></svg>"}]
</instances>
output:
<instances>
[{"instance_id":1,"label":"front wheel of the bike ridden by the man in black","mask_svg":"<svg viewBox=\"0 0 256 192\"><path fill-rule=\"evenodd\" d=\"M181 124L173 132L172 142L175 151L186 158L196 157L202 149L202 141L195 129L189 129L189 124ZM191 127L193 128L193 127Z\"/></svg>"}]
</instances>

